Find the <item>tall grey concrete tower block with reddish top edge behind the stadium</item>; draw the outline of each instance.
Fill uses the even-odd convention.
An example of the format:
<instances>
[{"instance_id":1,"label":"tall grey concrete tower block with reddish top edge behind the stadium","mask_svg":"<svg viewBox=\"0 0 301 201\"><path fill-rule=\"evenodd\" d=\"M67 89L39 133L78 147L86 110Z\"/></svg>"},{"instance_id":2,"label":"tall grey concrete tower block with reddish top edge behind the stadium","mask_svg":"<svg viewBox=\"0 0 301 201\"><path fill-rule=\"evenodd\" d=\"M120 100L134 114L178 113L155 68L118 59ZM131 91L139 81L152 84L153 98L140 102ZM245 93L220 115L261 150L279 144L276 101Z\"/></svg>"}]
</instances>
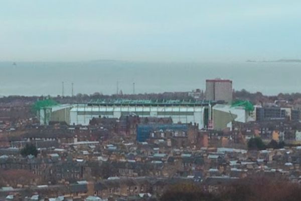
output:
<instances>
[{"instance_id":1,"label":"tall grey concrete tower block with reddish top edge behind the stadium","mask_svg":"<svg viewBox=\"0 0 301 201\"><path fill-rule=\"evenodd\" d=\"M207 79L206 99L232 101L232 80L229 79Z\"/></svg>"}]
</instances>

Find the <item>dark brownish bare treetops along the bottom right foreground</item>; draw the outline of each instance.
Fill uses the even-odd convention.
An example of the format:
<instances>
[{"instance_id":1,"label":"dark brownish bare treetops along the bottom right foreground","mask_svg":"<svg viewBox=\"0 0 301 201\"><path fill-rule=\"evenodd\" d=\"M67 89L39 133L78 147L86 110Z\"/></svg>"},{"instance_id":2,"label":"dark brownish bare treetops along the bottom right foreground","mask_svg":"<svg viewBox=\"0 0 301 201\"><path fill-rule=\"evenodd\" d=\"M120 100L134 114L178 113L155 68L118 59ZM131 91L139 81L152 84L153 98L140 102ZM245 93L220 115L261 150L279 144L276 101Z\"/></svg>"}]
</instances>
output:
<instances>
[{"instance_id":1,"label":"dark brownish bare treetops along the bottom right foreground","mask_svg":"<svg viewBox=\"0 0 301 201\"><path fill-rule=\"evenodd\" d=\"M208 191L200 184L182 183L167 188L160 201L297 201L301 186L284 178L251 177Z\"/></svg>"}]
</instances>

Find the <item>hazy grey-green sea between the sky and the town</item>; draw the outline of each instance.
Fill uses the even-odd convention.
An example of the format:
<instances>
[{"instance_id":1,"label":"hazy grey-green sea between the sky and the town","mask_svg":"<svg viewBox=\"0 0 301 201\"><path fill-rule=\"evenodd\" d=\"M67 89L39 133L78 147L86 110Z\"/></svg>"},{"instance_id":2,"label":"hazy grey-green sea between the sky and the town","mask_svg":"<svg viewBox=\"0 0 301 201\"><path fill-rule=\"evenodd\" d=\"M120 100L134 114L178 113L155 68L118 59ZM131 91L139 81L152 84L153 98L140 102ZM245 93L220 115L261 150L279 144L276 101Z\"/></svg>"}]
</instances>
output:
<instances>
[{"instance_id":1,"label":"hazy grey-green sea between the sky and the town","mask_svg":"<svg viewBox=\"0 0 301 201\"><path fill-rule=\"evenodd\" d=\"M301 63L0 62L0 95L65 95L189 91L208 78L229 78L235 89L264 94L301 92Z\"/></svg>"}]
</instances>

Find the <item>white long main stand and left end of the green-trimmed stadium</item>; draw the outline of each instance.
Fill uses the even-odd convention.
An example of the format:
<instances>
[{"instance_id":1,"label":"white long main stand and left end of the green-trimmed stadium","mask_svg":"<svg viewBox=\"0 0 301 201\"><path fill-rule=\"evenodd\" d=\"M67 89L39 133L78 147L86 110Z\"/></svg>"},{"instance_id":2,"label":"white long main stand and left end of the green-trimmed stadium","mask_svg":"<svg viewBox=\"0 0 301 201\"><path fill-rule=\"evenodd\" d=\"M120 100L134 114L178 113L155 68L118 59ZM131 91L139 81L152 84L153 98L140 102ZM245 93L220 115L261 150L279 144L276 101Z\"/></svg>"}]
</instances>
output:
<instances>
[{"instance_id":1,"label":"white long main stand and left end of the green-trimmed stadium","mask_svg":"<svg viewBox=\"0 0 301 201\"><path fill-rule=\"evenodd\" d=\"M45 101L45 100L42 100ZM171 117L174 123L196 123L207 126L211 108L216 102L184 100L95 100L87 104L41 104L37 114L41 125L66 122L68 125L88 125L92 118L136 115L140 117Z\"/></svg>"}]
</instances>

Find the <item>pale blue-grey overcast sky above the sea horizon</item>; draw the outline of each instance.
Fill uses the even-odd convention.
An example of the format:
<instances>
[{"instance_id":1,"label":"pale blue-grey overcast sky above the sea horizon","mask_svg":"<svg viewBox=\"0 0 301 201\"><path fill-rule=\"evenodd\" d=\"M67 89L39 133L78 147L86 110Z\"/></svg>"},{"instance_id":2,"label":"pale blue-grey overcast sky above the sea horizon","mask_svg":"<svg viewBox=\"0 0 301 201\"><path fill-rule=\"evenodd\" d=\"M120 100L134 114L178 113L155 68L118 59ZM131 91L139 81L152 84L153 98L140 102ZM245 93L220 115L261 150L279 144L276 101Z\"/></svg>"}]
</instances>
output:
<instances>
[{"instance_id":1,"label":"pale blue-grey overcast sky above the sea horizon","mask_svg":"<svg viewBox=\"0 0 301 201\"><path fill-rule=\"evenodd\" d=\"M300 19L300 0L0 0L0 61L301 59Z\"/></svg>"}]
</instances>

